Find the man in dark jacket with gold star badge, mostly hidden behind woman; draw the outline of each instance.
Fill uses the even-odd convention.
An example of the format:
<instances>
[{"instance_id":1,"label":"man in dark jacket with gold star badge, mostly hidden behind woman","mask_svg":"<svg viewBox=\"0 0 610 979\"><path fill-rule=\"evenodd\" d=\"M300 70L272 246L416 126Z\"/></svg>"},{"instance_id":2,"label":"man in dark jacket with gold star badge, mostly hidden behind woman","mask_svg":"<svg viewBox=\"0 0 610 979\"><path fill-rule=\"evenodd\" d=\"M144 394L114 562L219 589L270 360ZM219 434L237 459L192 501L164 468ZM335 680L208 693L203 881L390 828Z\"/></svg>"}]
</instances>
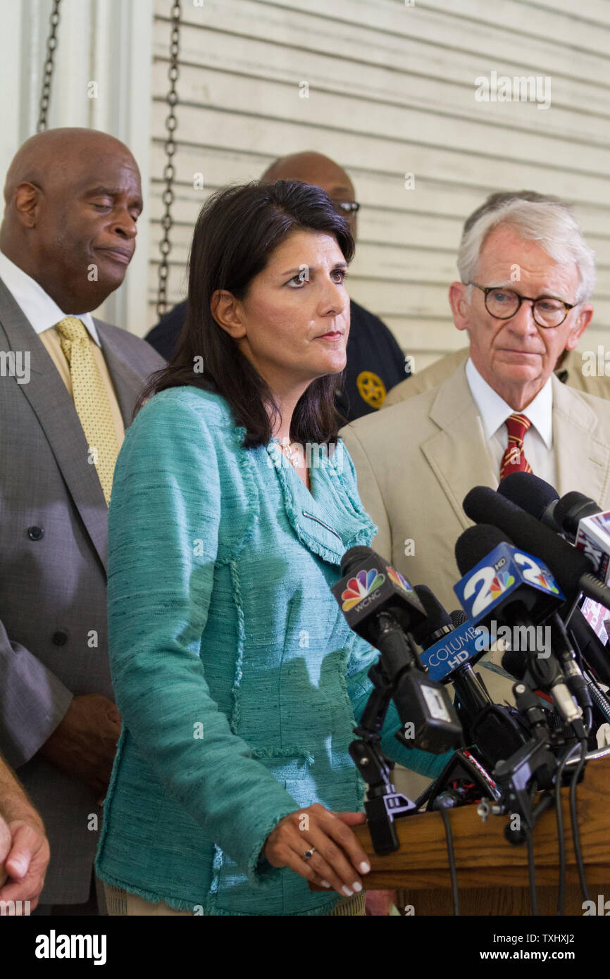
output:
<instances>
[{"instance_id":1,"label":"man in dark jacket with gold star badge, mostly hidden behind woman","mask_svg":"<svg viewBox=\"0 0 610 979\"><path fill-rule=\"evenodd\" d=\"M295 153L271 163L260 179L264 183L302 180L321 187L339 213L348 218L355 238L358 205L354 200L352 181L338 163L321 153ZM167 360L175 349L186 309L186 301L178 303L146 337ZM352 300L351 322L348 365L337 398L337 407L348 421L381 408L387 393L409 373L397 341L378 316Z\"/></svg>"}]
</instances>

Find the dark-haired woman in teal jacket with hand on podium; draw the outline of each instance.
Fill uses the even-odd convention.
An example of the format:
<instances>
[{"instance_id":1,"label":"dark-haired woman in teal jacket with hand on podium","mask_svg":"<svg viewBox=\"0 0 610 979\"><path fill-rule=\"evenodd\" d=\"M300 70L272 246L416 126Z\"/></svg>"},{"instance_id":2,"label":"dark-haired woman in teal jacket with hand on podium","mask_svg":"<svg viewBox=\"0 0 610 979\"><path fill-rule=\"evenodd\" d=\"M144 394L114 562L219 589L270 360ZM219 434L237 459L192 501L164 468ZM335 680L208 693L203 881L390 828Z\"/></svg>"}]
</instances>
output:
<instances>
[{"instance_id":1,"label":"dark-haired woman in teal jacket with hand on podium","mask_svg":"<svg viewBox=\"0 0 610 979\"><path fill-rule=\"evenodd\" d=\"M330 590L345 551L376 532L334 409L352 252L319 188L216 193L178 350L120 450L109 639L122 731L96 865L140 909L363 912L368 865L349 827L365 786L348 748L378 654ZM446 758L401 748L398 727L392 707L385 750L438 773Z\"/></svg>"}]
</instances>

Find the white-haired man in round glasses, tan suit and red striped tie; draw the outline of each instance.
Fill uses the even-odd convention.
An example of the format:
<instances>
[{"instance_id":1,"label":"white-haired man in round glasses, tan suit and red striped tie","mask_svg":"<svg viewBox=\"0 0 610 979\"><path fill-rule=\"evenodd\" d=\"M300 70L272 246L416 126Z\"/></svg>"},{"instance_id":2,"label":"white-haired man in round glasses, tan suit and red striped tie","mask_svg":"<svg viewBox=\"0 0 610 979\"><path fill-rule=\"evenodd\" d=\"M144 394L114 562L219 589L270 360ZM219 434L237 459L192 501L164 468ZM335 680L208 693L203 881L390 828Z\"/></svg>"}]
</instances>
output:
<instances>
[{"instance_id":1,"label":"white-haired man in round glasses, tan suit and red striped tie","mask_svg":"<svg viewBox=\"0 0 610 979\"><path fill-rule=\"evenodd\" d=\"M462 501L523 470L610 509L610 403L561 384L553 368L592 315L593 253L568 204L493 195L466 221L449 287L470 353L439 386L342 431L373 546L448 609Z\"/></svg>"}]
</instances>

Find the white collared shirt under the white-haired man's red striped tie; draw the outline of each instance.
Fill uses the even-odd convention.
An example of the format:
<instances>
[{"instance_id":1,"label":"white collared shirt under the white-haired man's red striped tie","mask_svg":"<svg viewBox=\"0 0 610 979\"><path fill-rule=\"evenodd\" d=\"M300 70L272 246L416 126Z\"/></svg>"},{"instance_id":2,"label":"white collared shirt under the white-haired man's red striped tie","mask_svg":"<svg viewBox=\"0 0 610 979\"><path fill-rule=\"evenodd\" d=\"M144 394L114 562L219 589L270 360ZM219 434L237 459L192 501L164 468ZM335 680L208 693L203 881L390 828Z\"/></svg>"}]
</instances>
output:
<instances>
[{"instance_id":1,"label":"white collared shirt under the white-haired man's red striped tie","mask_svg":"<svg viewBox=\"0 0 610 979\"><path fill-rule=\"evenodd\" d=\"M506 419L513 414L526 415L532 427L525 434L523 450L535 476L555 485L555 455L553 452L553 389L550 377L538 395L521 412L515 412L510 404L501 398L484 381L471 358L466 361L466 380L470 393L477 405L486 442L495 463L499 479L500 464L508 446Z\"/></svg>"}]
</instances>

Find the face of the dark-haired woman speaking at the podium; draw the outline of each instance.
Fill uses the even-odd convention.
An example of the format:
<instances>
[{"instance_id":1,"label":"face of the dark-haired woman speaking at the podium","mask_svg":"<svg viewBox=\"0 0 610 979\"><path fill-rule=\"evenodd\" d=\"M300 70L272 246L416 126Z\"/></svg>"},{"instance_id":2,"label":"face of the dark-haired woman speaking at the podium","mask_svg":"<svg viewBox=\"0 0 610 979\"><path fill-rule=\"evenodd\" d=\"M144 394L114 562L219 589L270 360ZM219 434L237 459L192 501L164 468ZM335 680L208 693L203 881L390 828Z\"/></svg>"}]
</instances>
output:
<instances>
[{"instance_id":1,"label":"face of the dark-haired woman speaking at the podium","mask_svg":"<svg viewBox=\"0 0 610 979\"><path fill-rule=\"evenodd\" d=\"M271 391L305 387L346 365L348 263L332 235L295 231L235 303L240 350ZM232 331L233 332L233 331Z\"/></svg>"}]
</instances>

